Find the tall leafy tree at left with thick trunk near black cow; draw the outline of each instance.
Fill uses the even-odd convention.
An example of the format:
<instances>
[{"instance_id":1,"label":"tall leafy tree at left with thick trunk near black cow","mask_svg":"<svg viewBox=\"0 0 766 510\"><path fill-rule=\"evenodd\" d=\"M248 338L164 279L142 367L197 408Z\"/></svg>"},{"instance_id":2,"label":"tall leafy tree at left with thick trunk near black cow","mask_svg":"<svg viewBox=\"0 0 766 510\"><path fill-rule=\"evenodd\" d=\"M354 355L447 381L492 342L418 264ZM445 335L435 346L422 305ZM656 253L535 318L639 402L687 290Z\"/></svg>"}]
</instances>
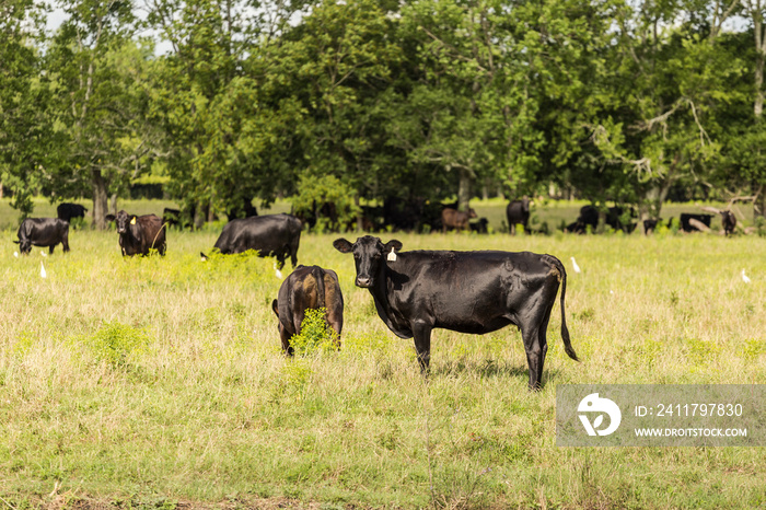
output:
<instances>
[{"instance_id":1,"label":"tall leafy tree at left with thick trunk near black cow","mask_svg":"<svg viewBox=\"0 0 766 510\"><path fill-rule=\"evenodd\" d=\"M132 4L119 0L65 0L69 15L54 37L47 67L54 82L57 126L67 143L59 165L44 176L61 197L93 199L93 221L105 228L109 188L146 167L149 148L140 139L146 108L146 61Z\"/></svg>"}]
</instances>

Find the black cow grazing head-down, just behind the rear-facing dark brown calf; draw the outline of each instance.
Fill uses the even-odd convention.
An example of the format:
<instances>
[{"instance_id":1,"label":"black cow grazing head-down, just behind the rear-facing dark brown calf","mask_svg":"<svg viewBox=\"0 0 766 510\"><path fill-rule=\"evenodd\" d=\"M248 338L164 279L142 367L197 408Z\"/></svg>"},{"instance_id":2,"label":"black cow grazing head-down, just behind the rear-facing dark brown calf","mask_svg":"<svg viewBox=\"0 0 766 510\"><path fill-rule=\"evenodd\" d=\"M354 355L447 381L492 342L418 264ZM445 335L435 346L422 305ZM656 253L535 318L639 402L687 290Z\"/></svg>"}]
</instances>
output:
<instances>
[{"instance_id":1,"label":"black cow grazing head-down, just behind the rear-facing dark brown calf","mask_svg":"<svg viewBox=\"0 0 766 510\"><path fill-rule=\"evenodd\" d=\"M262 257L276 256L281 269L287 257L295 267L300 241L301 220L285 213L267 215L231 220L223 228L214 247L222 254L257 250Z\"/></svg>"}]
</instances>

